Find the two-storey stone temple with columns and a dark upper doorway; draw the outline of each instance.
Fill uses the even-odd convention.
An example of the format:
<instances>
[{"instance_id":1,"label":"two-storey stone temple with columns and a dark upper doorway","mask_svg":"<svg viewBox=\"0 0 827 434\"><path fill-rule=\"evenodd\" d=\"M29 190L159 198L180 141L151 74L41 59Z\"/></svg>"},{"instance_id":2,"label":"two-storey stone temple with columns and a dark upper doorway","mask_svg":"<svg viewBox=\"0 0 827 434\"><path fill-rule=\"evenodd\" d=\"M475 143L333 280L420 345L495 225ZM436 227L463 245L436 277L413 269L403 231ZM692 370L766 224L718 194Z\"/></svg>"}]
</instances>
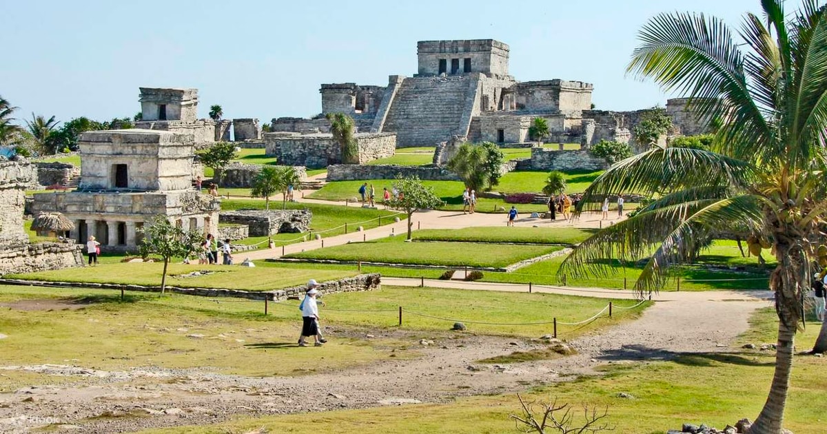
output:
<instances>
[{"instance_id":1,"label":"two-storey stone temple with columns and a dark upper doorway","mask_svg":"<svg viewBox=\"0 0 827 434\"><path fill-rule=\"evenodd\" d=\"M62 212L71 237L97 237L102 250L135 251L140 229L156 215L189 230L215 233L218 199L191 188L193 136L142 129L80 136L77 191L36 194L33 212Z\"/></svg>"}]
</instances>

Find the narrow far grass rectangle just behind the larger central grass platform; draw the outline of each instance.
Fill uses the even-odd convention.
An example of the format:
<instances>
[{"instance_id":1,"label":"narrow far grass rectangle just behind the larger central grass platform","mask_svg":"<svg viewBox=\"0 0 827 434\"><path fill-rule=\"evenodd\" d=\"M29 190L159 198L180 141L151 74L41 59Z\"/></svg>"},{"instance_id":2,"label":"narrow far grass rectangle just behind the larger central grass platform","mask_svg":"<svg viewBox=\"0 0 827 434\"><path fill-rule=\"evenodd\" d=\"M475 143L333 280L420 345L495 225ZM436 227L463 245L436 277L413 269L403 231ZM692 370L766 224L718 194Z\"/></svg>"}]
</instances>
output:
<instances>
[{"instance_id":1,"label":"narrow far grass rectangle just behind the larger central grass platform","mask_svg":"<svg viewBox=\"0 0 827 434\"><path fill-rule=\"evenodd\" d=\"M595 230L574 227L466 227L425 229L412 234L417 241L466 241L490 243L577 244Z\"/></svg>"}]
</instances>

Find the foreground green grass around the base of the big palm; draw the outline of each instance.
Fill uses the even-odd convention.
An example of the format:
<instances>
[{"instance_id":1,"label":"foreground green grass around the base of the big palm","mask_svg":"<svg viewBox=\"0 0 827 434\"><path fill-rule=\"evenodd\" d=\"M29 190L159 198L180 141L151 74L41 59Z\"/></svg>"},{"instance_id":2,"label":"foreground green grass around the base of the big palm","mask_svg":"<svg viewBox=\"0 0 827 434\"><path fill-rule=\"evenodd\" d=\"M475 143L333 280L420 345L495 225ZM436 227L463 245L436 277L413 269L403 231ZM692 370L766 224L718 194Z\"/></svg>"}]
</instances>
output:
<instances>
[{"instance_id":1,"label":"foreground green grass around the base of the big palm","mask_svg":"<svg viewBox=\"0 0 827 434\"><path fill-rule=\"evenodd\" d=\"M772 309L762 309L753 316L745 337L752 343L774 342L772 330L776 323ZM817 333L818 327L807 327L796 338L796 346L809 348ZM557 398L558 403L568 403L578 410L581 403L608 408L613 432L660 434L667 429L680 430L685 422L703 422L721 429L742 417L754 420L758 415L772 379L773 357L770 351L731 349L680 355L672 361L607 365L603 376L540 385L521 395L529 401ZM796 434L820 434L824 432L823 403L827 390L823 359L797 355L794 363L784 427ZM621 392L634 398L619 398ZM165 428L145 434L249 432L262 427L270 432L297 434L516 432L509 414L519 414L519 402L513 393L457 398L441 404L242 417L218 425Z\"/></svg>"}]
</instances>

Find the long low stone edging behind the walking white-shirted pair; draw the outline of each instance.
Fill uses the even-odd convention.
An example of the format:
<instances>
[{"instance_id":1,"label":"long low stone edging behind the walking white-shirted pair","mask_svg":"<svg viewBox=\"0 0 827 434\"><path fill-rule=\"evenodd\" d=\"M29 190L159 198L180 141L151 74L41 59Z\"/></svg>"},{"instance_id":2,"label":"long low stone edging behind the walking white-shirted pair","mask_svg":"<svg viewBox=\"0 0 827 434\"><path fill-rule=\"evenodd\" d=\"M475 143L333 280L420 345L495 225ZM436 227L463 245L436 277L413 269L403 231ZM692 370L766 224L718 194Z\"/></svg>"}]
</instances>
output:
<instances>
[{"instance_id":1,"label":"long low stone edging behind the walking white-shirted pair","mask_svg":"<svg viewBox=\"0 0 827 434\"><path fill-rule=\"evenodd\" d=\"M160 292L160 286L143 286L143 285L122 285L122 284L93 284L86 282L44 282L41 280L23 280L23 279L0 279L2 284L22 284L31 286L49 286L61 288L93 288L93 289L117 289L125 291L141 291L141 292ZM354 277L348 277L338 280L330 280L322 282L317 289L322 295L327 293L351 293L356 291L372 291L380 289L381 277L380 274L359 274ZM179 288L176 286L167 285L167 291L172 293L183 293L186 295L197 295L200 297L234 297L246 298L248 300L270 300L270 301L284 301L288 298L299 298L307 292L307 287L304 285L293 286L285 289L275 289L273 291L244 291L241 289L222 289L222 288ZM263 309L263 308L262 308Z\"/></svg>"}]
</instances>

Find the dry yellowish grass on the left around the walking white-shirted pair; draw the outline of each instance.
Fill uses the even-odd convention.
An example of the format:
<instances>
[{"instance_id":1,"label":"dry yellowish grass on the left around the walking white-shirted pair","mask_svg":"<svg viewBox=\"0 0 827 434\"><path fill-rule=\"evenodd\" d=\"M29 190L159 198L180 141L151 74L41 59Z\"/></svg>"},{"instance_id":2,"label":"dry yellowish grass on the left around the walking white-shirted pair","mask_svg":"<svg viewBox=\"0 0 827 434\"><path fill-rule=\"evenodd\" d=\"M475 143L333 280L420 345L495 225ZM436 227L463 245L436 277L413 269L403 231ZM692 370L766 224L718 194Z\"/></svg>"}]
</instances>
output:
<instances>
[{"instance_id":1,"label":"dry yellowish grass on the left around the walking white-shirted pair","mask_svg":"<svg viewBox=\"0 0 827 434\"><path fill-rule=\"evenodd\" d=\"M22 305L34 301L81 309L55 305L52 310L22 310ZM307 351L296 346L301 329L298 309L290 309L292 315L265 316L264 303L234 301L127 292L122 303L120 294L112 290L0 285L0 331L8 336L2 340L0 365L98 370L162 366L251 376L295 375L370 363L404 346L395 340L337 336L326 346ZM396 353L406 356L404 351ZM324 363L318 363L320 359ZM43 384L25 372L3 371L0 392L22 387L19 384L26 380Z\"/></svg>"}]
</instances>

